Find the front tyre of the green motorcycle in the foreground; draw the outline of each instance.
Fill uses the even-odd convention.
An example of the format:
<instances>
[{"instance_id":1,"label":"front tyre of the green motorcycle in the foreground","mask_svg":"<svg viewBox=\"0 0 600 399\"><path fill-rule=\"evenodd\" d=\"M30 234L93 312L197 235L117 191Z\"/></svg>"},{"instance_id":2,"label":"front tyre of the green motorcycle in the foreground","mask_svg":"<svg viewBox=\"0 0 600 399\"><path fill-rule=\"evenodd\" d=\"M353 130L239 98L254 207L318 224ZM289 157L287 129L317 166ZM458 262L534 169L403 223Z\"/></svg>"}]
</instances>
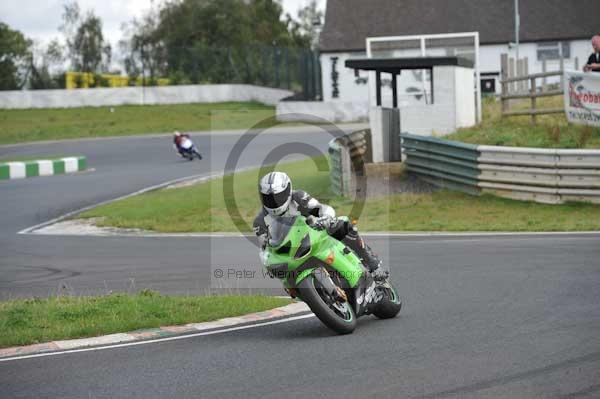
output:
<instances>
[{"instance_id":1,"label":"front tyre of the green motorcycle in the foreground","mask_svg":"<svg viewBox=\"0 0 600 399\"><path fill-rule=\"evenodd\" d=\"M352 306L347 301L331 298L323 288L317 287L314 275L302 280L298 285L298 292L319 320L336 333L350 334L356 328L356 315Z\"/></svg>"}]
</instances>

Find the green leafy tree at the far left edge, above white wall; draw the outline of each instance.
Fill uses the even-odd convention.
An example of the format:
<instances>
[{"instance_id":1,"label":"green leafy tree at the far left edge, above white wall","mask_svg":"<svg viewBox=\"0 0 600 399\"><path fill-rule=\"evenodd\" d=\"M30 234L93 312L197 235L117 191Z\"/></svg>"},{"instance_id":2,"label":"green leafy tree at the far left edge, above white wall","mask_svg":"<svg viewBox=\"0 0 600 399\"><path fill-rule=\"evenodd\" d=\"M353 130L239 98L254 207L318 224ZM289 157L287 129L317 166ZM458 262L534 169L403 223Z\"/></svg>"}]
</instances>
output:
<instances>
[{"instance_id":1,"label":"green leafy tree at the far left edge, above white wall","mask_svg":"<svg viewBox=\"0 0 600 399\"><path fill-rule=\"evenodd\" d=\"M27 80L31 40L0 22L0 90L17 90Z\"/></svg>"}]
</instances>

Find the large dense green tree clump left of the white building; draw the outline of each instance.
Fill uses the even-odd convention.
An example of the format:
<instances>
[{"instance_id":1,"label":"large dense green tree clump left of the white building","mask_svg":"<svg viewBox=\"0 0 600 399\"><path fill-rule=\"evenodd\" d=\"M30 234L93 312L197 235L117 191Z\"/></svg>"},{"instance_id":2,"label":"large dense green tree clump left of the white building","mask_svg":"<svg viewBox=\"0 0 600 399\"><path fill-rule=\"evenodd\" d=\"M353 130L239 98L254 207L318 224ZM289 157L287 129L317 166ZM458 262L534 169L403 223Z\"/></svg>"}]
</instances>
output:
<instances>
[{"instance_id":1,"label":"large dense green tree clump left of the white building","mask_svg":"<svg viewBox=\"0 0 600 399\"><path fill-rule=\"evenodd\" d=\"M275 0L166 2L126 27L120 43L125 69L147 82L169 76L173 82L279 86L298 75L288 69L310 47L302 27L282 13Z\"/></svg>"}]
</instances>

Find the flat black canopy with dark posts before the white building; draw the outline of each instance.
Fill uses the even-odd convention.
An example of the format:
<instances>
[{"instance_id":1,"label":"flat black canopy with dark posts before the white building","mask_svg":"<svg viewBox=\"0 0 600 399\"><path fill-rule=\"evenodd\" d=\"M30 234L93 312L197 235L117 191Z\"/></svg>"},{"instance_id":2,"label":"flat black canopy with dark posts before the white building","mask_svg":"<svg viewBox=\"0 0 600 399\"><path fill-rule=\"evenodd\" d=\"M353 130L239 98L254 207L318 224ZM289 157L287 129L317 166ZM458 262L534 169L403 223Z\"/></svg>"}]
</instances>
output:
<instances>
[{"instance_id":1,"label":"flat black canopy with dark posts before the white building","mask_svg":"<svg viewBox=\"0 0 600 399\"><path fill-rule=\"evenodd\" d=\"M398 87L396 77L403 69L428 69L434 66L461 66L473 68L473 62L461 57L417 57L417 58L356 58L346 60L346 68L376 72L377 106L381 106L381 73L392 75L394 108L398 108ZM433 102L433 73L431 73L431 99Z\"/></svg>"}]
</instances>

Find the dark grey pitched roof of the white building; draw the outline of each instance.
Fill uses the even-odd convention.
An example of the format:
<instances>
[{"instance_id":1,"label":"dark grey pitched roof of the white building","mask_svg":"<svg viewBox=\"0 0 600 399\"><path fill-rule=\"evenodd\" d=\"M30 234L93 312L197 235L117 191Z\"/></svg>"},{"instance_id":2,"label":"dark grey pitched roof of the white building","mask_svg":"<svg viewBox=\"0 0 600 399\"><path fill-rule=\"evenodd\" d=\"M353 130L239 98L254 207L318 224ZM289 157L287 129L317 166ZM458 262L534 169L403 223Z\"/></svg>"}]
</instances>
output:
<instances>
[{"instance_id":1,"label":"dark grey pitched roof of the white building","mask_svg":"<svg viewBox=\"0 0 600 399\"><path fill-rule=\"evenodd\" d=\"M600 33L600 0L526 0L519 8L522 42ZM367 37L475 31L481 44L505 44L514 29L510 0L327 0L320 49L364 51Z\"/></svg>"}]
</instances>

